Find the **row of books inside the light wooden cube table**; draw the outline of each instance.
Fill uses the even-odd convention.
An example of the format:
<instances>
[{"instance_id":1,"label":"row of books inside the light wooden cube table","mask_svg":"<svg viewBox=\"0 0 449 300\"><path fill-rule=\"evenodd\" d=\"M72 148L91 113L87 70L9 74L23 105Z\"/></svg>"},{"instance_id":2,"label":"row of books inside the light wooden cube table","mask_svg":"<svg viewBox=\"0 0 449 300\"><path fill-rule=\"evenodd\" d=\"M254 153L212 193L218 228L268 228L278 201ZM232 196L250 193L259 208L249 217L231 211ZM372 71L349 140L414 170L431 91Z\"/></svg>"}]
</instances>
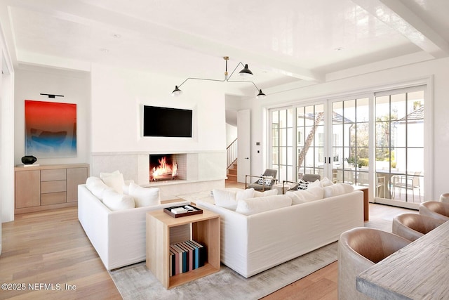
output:
<instances>
[{"instance_id":1,"label":"row of books inside the light wooden cube table","mask_svg":"<svg viewBox=\"0 0 449 300\"><path fill-rule=\"evenodd\" d=\"M194 240L170 244L170 276L204 266L206 247Z\"/></svg>"}]
</instances>

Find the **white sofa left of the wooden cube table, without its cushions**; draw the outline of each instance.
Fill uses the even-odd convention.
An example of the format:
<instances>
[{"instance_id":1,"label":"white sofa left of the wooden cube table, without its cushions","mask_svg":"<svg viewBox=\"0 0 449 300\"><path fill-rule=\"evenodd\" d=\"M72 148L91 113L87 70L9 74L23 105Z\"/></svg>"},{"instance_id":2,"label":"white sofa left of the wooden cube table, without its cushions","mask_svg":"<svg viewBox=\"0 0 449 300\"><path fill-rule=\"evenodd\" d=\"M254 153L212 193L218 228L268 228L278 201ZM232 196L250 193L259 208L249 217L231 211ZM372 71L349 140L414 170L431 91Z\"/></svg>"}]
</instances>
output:
<instances>
[{"instance_id":1,"label":"white sofa left of the wooden cube table, without its cushions","mask_svg":"<svg viewBox=\"0 0 449 300\"><path fill-rule=\"evenodd\" d=\"M78 219L100 259L112 270L145 261L146 213L187 201L112 211L86 184L78 185Z\"/></svg>"}]
</instances>

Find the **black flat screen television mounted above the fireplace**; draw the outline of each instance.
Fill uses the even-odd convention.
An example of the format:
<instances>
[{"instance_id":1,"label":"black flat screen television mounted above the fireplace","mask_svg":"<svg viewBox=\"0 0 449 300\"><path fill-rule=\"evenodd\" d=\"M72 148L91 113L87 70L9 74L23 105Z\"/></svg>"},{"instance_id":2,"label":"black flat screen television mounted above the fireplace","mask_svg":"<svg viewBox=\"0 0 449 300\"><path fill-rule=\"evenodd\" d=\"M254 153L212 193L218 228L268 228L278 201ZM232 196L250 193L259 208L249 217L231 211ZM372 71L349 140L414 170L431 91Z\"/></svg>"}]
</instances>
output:
<instances>
[{"instance_id":1,"label":"black flat screen television mounted above the fireplace","mask_svg":"<svg viewBox=\"0 0 449 300\"><path fill-rule=\"evenodd\" d=\"M143 106L143 136L192 138L192 110Z\"/></svg>"}]
</instances>

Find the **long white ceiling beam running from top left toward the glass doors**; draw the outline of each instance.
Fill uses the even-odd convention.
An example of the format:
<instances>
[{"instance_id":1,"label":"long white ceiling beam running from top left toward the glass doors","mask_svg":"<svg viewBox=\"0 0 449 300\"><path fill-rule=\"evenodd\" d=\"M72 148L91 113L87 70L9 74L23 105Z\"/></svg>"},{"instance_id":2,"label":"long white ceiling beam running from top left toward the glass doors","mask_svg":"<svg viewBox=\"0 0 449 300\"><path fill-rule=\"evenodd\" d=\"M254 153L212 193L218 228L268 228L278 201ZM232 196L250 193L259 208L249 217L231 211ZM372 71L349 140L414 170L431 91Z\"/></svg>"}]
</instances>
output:
<instances>
[{"instance_id":1,"label":"long white ceiling beam running from top left toward the glass doors","mask_svg":"<svg viewBox=\"0 0 449 300\"><path fill-rule=\"evenodd\" d=\"M134 32L139 32L144 37L147 36L149 39L163 41L208 56L217 56L217 54L219 54L235 58L236 60L250 60L250 62L255 65L264 66L270 68L274 72L279 72L302 80L324 81L325 79L325 74L317 74L316 72L311 72L311 70L291 63L261 56L242 48L210 41L209 39L204 39L203 37L188 34L180 30L174 30L154 24L148 20L133 18L129 15L123 15L114 11L107 11L98 6L87 4L86 2L70 0L40 0L33 2L24 0L2 0L2 2L11 6L26 7L41 13L45 12L48 15L53 15L55 18L79 22L83 25L113 27L117 30L119 30L119 28L132 30Z\"/></svg>"}]
</instances>

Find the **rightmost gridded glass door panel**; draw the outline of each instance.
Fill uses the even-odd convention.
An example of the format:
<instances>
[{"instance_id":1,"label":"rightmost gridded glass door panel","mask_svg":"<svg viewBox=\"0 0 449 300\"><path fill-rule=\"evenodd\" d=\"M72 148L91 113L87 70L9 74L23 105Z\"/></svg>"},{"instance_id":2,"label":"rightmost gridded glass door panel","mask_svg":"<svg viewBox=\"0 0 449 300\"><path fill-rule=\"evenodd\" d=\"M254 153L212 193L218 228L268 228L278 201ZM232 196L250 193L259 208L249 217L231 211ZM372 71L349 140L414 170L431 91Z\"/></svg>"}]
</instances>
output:
<instances>
[{"instance_id":1,"label":"rightmost gridded glass door panel","mask_svg":"<svg viewBox=\"0 0 449 300\"><path fill-rule=\"evenodd\" d=\"M387 204L424 202L424 88L375 97L376 176Z\"/></svg>"}]
</instances>

